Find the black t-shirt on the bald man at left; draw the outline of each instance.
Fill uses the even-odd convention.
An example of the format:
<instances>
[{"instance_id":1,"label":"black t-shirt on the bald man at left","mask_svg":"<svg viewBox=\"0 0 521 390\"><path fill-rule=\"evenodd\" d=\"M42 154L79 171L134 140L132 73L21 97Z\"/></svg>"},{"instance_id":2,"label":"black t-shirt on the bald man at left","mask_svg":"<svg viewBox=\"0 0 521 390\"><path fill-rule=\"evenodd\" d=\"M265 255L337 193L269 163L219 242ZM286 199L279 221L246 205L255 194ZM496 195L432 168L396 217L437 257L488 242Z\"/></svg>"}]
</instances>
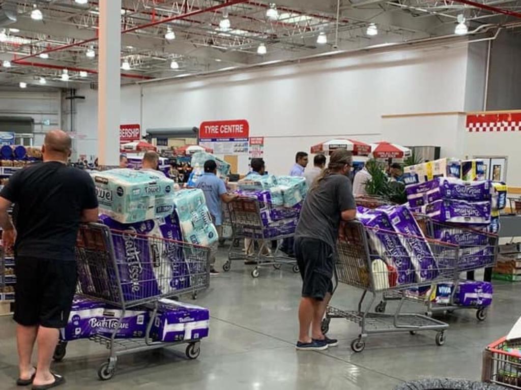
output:
<instances>
[{"instance_id":1,"label":"black t-shirt on the bald man at left","mask_svg":"<svg viewBox=\"0 0 521 390\"><path fill-rule=\"evenodd\" d=\"M75 259L82 211L98 206L90 175L57 161L20 169L0 196L17 208L15 254L57 260Z\"/></svg>"}]
</instances>

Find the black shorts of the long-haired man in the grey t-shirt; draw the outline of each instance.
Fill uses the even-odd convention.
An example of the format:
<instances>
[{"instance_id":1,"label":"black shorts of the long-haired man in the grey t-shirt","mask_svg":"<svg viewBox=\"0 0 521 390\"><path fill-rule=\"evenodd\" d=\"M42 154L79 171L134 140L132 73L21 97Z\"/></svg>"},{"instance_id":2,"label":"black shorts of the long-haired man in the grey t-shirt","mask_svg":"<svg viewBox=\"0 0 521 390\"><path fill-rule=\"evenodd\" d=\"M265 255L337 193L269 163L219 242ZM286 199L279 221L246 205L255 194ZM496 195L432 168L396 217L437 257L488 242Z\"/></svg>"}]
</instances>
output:
<instances>
[{"instance_id":1,"label":"black shorts of the long-haired man in the grey t-shirt","mask_svg":"<svg viewBox=\"0 0 521 390\"><path fill-rule=\"evenodd\" d=\"M333 292L333 249L315 238L295 238L295 257L302 276L302 296L324 299Z\"/></svg>"}]
</instances>

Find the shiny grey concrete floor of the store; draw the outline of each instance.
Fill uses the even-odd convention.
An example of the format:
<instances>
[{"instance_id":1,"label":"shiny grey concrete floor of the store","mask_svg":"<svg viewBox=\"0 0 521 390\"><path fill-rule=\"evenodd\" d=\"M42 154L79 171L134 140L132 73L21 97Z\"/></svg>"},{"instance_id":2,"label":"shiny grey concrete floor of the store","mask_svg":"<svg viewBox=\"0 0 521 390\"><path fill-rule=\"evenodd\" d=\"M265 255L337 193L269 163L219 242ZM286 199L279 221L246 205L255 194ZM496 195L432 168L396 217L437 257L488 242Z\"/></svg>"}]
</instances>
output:
<instances>
[{"instance_id":1,"label":"shiny grey concrete floor of the store","mask_svg":"<svg viewBox=\"0 0 521 390\"><path fill-rule=\"evenodd\" d=\"M220 263L225 254L220 254ZM251 266L234 261L232 270L212 278L197 304L210 309L210 337L202 343L199 359L189 361L183 347L122 356L116 375L101 382L96 371L107 351L89 341L69 343L63 362L54 370L67 383L61 388L97 390L139 389L392 389L402 381L425 377L480 379L481 351L505 335L519 316L521 295L516 284L494 282L494 301L485 322L475 310L460 310L450 323L444 346L435 333L374 335L366 349L351 351L358 327L341 319L331 321L331 337L340 345L327 351L296 352L296 309L301 282L289 267L263 268L258 279ZM355 308L360 291L340 286L332 304ZM190 301L187 298L187 301ZM423 312L413 304L408 309ZM17 355L15 326L0 317L0 389L15 389Z\"/></svg>"}]
</instances>

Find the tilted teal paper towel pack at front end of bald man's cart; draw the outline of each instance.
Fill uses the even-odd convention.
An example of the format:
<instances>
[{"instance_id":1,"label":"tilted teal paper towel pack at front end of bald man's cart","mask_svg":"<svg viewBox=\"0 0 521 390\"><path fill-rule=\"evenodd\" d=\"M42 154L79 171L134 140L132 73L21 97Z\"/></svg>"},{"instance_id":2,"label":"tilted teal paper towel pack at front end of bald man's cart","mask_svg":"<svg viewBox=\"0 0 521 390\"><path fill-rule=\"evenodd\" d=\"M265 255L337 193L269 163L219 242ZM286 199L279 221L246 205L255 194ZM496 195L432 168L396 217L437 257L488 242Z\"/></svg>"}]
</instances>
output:
<instances>
[{"instance_id":1,"label":"tilted teal paper towel pack at front end of bald man's cart","mask_svg":"<svg viewBox=\"0 0 521 390\"><path fill-rule=\"evenodd\" d=\"M184 241L210 246L219 239L202 190L177 191L173 194L173 203Z\"/></svg>"}]
</instances>

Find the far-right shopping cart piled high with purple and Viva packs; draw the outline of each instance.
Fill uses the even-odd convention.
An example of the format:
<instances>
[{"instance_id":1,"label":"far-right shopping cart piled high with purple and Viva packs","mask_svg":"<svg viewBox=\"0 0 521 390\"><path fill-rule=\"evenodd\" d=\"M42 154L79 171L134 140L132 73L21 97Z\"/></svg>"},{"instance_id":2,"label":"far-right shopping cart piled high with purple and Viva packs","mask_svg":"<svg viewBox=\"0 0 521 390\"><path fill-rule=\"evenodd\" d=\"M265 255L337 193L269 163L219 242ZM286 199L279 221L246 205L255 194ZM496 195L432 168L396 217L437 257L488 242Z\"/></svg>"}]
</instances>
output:
<instances>
[{"instance_id":1,"label":"far-right shopping cart piled high with purple and Viva packs","mask_svg":"<svg viewBox=\"0 0 521 390\"><path fill-rule=\"evenodd\" d=\"M453 288L448 303L434 303L425 297L418 297L405 293L405 297L410 300L421 301L426 305L427 316L433 313L453 312L459 309L475 309L476 318L485 321L487 318L487 307L479 303L475 305L459 305L455 302L456 289L461 282L461 273L475 271L481 268L494 267L498 258L499 236L496 234L483 232L472 228L464 228L450 223L433 221L423 216L416 216L420 227L426 235L432 239L440 240L458 246L458 261L453 276ZM386 300L393 300L396 297L384 295L383 300L376 306L376 312L384 312Z\"/></svg>"}]
</instances>

